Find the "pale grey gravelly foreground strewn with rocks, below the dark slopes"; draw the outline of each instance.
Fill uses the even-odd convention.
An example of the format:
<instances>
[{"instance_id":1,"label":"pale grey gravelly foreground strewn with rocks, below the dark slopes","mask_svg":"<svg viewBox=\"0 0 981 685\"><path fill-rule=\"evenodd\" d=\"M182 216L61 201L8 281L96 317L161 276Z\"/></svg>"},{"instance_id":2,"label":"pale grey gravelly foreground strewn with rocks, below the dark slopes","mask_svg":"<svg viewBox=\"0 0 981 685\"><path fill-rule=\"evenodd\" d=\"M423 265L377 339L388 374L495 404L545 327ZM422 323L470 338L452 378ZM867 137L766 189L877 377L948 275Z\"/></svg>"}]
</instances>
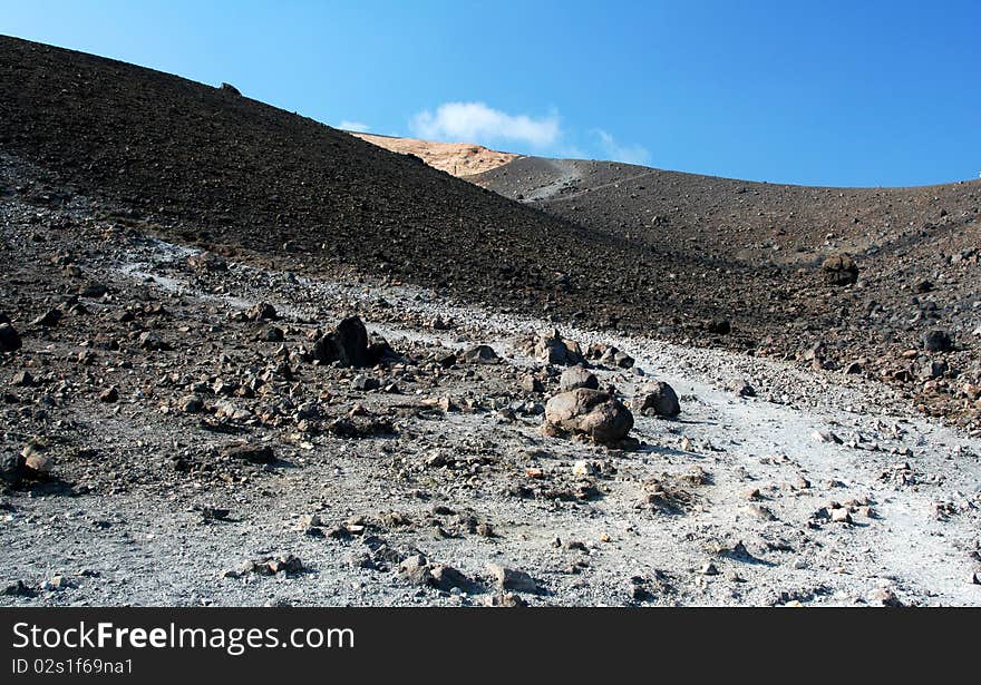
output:
<instances>
[{"instance_id":1,"label":"pale grey gravelly foreground strewn with rocks, below the dark slopes","mask_svg":"<svg viewBox=\"0 0 981 685\"><path fill-rule=\"evenodd\" d=\"M0 176L2 604L981 604L981 434L896 389Z\"/></svg>"}]
</instances>

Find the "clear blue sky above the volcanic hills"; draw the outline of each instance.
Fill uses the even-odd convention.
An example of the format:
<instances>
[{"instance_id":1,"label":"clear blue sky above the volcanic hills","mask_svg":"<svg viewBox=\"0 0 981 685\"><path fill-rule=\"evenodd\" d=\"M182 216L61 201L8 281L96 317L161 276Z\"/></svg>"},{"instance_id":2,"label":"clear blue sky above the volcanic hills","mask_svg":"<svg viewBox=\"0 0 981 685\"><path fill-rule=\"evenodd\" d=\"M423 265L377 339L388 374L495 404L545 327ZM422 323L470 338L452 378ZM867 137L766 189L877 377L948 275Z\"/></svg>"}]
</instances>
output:
<instances>
[{"instance_id":1,"label":"clear blue sky above the volcanic hills","mask_svg":"<svg viewBox=\"0 0 981 685\"><path fill-rule=\"evenodd\" d=\"M333 126L808 185L981 172L981 2L0 0Z\"/></svg>"}]
</instances>

